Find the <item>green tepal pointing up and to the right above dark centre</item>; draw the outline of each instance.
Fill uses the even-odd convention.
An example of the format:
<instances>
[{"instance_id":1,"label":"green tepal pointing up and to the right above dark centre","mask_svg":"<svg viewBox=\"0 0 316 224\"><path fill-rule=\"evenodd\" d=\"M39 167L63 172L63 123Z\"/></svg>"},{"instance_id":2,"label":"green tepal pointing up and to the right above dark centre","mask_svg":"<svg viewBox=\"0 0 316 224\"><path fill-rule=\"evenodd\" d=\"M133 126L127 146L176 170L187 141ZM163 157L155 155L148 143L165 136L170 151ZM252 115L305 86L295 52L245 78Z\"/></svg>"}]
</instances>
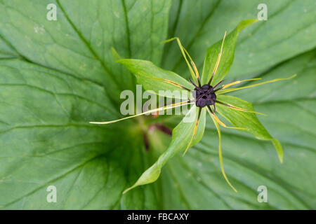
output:
<instances>
[{"instance_id":1,"label":"green tepal pointing up and to the right above dark centre","mask_svg":"<svg viewBox=\"0 0 316 224\"><path fill-rule=\"evenodd\" d=\"M218 83L220 80L223 80L226 73L228 73L228 71L230 70L230 66L232 65L232 62L234 60L235 47L240 31L257 21L258 19L242 20L242 22L239 22L237 27L225 38L223 52L220 57L220 63L218 64L218 69L211 83ZM220 53L222 40L211 45L211 47L207 48L206 50L202 73L202 83L208 83L209 79L212 76L213 69L216 66L216 61Z\"/></svg>"}]
</instances>

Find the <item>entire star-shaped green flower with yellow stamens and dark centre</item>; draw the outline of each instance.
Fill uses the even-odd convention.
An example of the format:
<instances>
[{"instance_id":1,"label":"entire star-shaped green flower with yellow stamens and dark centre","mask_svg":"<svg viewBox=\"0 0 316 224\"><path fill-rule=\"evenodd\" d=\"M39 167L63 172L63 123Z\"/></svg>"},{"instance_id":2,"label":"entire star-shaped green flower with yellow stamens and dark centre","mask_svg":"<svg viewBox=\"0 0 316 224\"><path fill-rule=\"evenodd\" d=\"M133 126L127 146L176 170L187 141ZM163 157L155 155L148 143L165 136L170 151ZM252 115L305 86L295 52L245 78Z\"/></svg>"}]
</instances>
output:
<instances>
[{"instance_id":1,"label":"entire star-shaped green flower with yellow stamens and dark centre","mask_svg":"<svg viewBox=\"0 0 316 224\"><path fill-rule=\"evenodd\" d=\"M199 75L199 71L195 62L193 62L189 53L183 45L180 43L180 39L175 37L171 38L166 42L177 41L180 51L185 59L185 62L190 70L192 79L189 81L185 80L178 74L172 71L166 71L159 68L158 66L152 64L152 62L140 60L140 59L119 59L118 62L124 64L131 73L136 76L137 82L145 88L145 90L152 90L158 92L158 90L178 90L178 91L188 91L190 97L189 99L182 99L179 103L169 104L167 106L158 107L157 109L152 109L150 111L145 111L144 113L138 113L133 116L126 118L121 118L119 120L112 120L107 122L91 122L94 124L110 124L116 123L120 120L125 120L128 118L134 118L136 116L142 116L146 113L164 111L166 109L173 109L178 106L183 106L185 104L192 104L190 110L187 112L183 120L173 129L171 143L162 155L159 156L157 162L154 163L150 168L148 168L133 184L130 188L126 189L124 193L136 186L144 185L147 183L152 183L156 181L160 175L161 169L164 164L173 157L178 152L183 152L183 155L187 153L187 150L197 144L204 134L204 128L206 123L206 111L213 120L213 123L218 132L218 154L220 160L220 169L225 178L225 181L230 185L230 187L237 192L237 190L232 186L228 177L226 176L223 168L223 156L221 150L221 136L220 136L220 126L230 129L235 129L241 132L249 132L254 135L257 139L272 141L275 146L277 155L280 162L283 161L283 151L282 146L277 139L274 139L265 127L260 123L256 114L261 114L254 111L251 103L246 102L237 97L232 97L226 95L229 92L234 92L237 90L242 90L245 88L256 87L258 85L263 85L265 83L273 83L279 80L287 80L293 78L277 78L274 80L268 80L261 83L254 83L251 85L242 85L242 87L234 87L239 83L243 82L256 82L260 78L251 78L246 80L236 80L232 83L224 84L223 78L226 73L228 73L230 66L234 59L235 45L237 42L237 37L239 32L245 27L251 25L257 20L243 20L239 22L239 25L226 36L223 40L218 41L206 50L206 57L204 59L204 66L202 71L202 76ZM167 92L167 91L165 91ZM170 91L169 91L170 92ZM168 94L163 97L170 97ZM232 126L225 125L216 114L228 120ZM195 120L193 122L185 122L185 118L194 116Z\"/></svg>"}]
</instances>

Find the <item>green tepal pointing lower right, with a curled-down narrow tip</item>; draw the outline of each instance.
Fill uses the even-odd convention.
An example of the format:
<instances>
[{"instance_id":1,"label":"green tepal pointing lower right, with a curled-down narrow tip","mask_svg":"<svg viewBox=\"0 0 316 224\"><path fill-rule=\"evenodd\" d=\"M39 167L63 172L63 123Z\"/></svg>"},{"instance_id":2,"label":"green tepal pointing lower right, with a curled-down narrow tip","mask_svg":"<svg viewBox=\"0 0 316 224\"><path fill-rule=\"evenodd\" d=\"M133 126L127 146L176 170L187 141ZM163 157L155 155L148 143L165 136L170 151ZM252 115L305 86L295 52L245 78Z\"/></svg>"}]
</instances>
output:
<instances>
[{"instance_id":1,"label":"green tepal pointing lower right, with a curled-down narrow tip","mask_svg":"<svg viewBox=\"0 0 316 224\"><path fill-rule=\"evenodd\" d=\"M256 117L254 106L252 106L251 103L246 102L243 99L239 99L238 97L232 97L222 94L218 95L217 99L220 102L224 102L225 104L230 104L232 106L250 111L239 111L228 106L223 106L221 104L218 104L216 109L216 111L218 111L221 116L232 123L232 125L234 125L235 127L244 127L245 132L253 134L254 137L256 137L257 139L272 141L272 144L275 146L275 149L277 151L277 155L279 156L279 161L281 163L283 162L283 150L279 140L274 139L265 129L265 127L263 127L261 122Z\"/></svg>"}]
</instances>

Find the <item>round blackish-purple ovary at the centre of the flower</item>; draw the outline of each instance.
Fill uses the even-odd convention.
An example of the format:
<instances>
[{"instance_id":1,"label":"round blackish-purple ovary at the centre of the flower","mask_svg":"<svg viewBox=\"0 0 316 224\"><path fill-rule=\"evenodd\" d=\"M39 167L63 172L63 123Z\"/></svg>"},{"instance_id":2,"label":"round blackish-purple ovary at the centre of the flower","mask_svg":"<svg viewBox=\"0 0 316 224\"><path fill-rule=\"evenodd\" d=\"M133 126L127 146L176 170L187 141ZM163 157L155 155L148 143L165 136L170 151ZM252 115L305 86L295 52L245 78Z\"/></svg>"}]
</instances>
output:
<instances>
[{"instance_id":1,"label":"round blackish-purple ovary at the centre of the flower","mask_svg":"<svg viewBox=\"0 0 316 224\"><path fill-rule=\"evenodd\" d=\"M195 105L198 107L204 107L207 105L213 105L216 101L216 94L213 91L211 85L205 84L202 87L195 88Z\"/></svg>"}]
</instances>

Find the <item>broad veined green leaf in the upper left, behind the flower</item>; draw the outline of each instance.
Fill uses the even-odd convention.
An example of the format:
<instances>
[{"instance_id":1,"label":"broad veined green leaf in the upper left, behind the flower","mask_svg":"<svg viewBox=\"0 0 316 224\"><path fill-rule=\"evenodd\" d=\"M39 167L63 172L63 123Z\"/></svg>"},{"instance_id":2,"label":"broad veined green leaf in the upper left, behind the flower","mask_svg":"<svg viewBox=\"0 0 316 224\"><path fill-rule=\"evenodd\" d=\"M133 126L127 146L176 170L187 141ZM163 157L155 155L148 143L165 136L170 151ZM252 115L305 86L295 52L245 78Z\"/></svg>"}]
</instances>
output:
<instances>
[{"instance_id":1,"label":"broad veined green leaf in the upper left, behind the flower","mask_svg":"<svg viewBox=\"0 0 316 224\"><path fill-rule=\"evenodd\" d=\"M48 3L58 8L58 20L46 19ZM20 57L105 85L112 100L118 101L121 90L135 86L109 49L114 47L121 57L158 63L161 58L159 42L166 36L170 1L149 3L1 0L0 36Z\"/></svg>"}]
</instances>

